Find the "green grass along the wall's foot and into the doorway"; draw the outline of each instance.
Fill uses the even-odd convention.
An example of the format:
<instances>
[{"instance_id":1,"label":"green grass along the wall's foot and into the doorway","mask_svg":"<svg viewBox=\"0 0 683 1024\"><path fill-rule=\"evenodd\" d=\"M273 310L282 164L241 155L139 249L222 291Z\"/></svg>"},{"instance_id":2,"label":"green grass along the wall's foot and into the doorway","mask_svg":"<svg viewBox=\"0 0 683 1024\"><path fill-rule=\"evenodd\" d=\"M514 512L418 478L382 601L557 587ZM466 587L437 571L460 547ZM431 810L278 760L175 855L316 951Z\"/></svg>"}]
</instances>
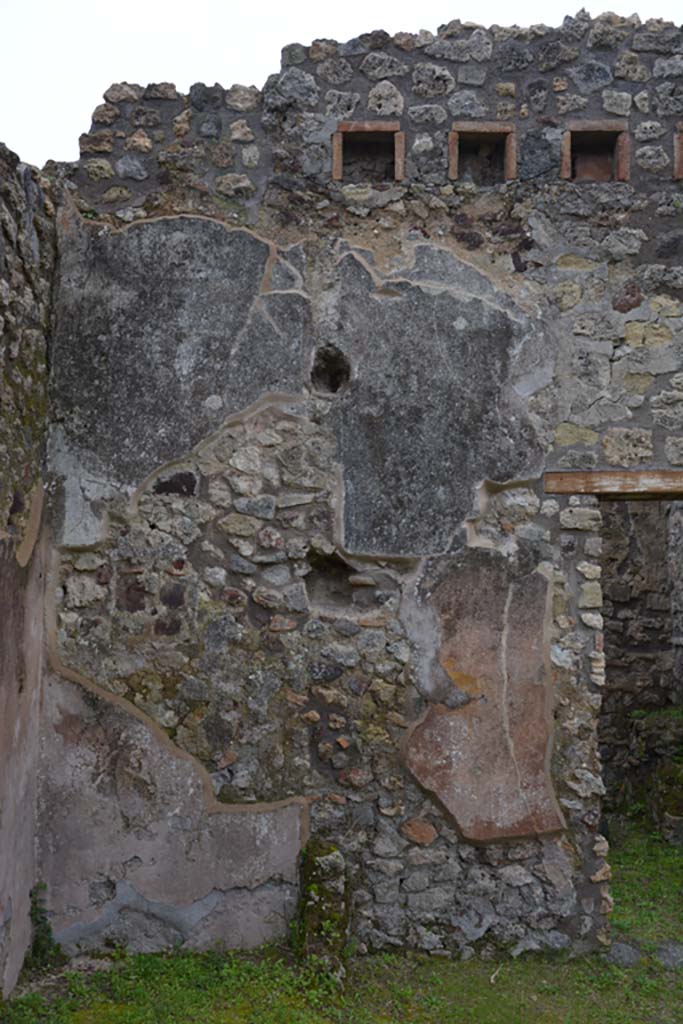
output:
<instances>
[{"instance_id":1,"label":"green grass along the wall's foot and into the doorway","mask_svg":"<svg viewBox=\"0 0 683 1024\"><path fill-rule=\"evenodd\" d=\"M683 853L622 826L614 934L681 940ZM602 956L454 963L356 958L346 988L284 950L119 954L108 972L62 972L50 994L0 1007L1 1024L683 1024L683 971L645 957L629 971Z\"/></svg>"}]
</instances>

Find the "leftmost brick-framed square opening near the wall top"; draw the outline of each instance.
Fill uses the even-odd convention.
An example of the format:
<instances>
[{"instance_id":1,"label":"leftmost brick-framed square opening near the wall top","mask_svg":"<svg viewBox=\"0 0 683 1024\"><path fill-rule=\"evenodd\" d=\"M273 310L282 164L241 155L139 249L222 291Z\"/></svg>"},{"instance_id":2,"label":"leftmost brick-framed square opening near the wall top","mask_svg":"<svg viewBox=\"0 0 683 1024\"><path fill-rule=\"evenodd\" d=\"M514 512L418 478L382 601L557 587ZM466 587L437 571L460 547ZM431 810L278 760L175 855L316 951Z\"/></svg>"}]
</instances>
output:
<instances>
[{"instance_id":1,"label":"leftmost brick-framed square opening near the wall top","mask_svg":"<svg viewBox=\"0 0 683 1024\"><path fill-rule=\"evenodd\" d=\"M332 177L382 184L404 176L405 136L397 121L342 121L332 136Z\"/></svg>"}]
</instances>

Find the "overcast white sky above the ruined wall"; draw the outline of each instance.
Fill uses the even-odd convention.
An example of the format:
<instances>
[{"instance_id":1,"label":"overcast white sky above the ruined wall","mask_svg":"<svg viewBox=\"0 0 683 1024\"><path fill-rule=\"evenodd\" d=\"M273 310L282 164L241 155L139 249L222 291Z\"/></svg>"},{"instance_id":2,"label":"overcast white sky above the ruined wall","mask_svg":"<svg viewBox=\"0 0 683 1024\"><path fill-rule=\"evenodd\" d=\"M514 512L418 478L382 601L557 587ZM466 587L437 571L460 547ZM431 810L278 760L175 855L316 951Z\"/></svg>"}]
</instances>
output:
<instances>
[{"instance_id":1,"label":"overcast white sky above the ruined wall","mask_svg":"<svg viewBox=\"0 0 683 1024\"><path fill-rule=\"evenodd\" d=\"M41 167L76 160L78 136L112 82L263 85L287 43L372 29L417 32L459 17L560 25L581 0L0 0L0 141ZM680 24L681 0L587 2Z\"/></svg>"}]
</instances>

